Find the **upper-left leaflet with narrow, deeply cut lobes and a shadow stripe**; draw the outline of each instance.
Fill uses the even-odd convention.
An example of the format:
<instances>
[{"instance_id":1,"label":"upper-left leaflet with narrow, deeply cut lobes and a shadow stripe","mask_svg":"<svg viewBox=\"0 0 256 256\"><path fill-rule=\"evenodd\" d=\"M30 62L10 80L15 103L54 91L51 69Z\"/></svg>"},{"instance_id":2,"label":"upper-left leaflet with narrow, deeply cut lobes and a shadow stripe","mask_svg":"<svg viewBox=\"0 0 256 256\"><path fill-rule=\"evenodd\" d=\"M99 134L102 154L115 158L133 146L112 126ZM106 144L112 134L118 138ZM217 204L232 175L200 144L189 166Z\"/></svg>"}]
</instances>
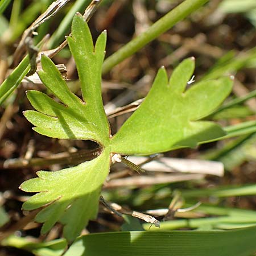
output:
<instances>
[{"instance_id":1,"label":"upper-left leaflet with narrow, deeply cut lobes and a shadow stripe","mask_svg":"<svg viewBox=\"0 0 256 256\"><path fill-rule=\"evenodd\" d=\"M43 55L43 71L38 72L40 79L61 103L31 90L27 96L37 112L29 110L24 115L35 125L35 131L48 137L91 139L108 145L110 128L101 98L106 32L102 32L94 47L88 25L81 15L76 15L68 42L76 61L84 101L69 90L55 64Z\"/></svg>"}]
</instances>

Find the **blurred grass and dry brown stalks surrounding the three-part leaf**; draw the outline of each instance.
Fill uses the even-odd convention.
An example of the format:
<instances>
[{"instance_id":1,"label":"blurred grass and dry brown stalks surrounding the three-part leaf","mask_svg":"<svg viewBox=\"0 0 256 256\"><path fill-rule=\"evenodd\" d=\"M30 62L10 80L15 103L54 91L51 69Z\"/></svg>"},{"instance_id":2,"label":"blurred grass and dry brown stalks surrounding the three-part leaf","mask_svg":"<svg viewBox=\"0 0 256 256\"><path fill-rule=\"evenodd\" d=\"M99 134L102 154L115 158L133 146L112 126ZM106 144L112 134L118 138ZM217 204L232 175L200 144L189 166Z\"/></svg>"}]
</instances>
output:
<instances>
[{"instance_id":1,"label":"blurred grass and dry brown stalks surrounding the three-part leaf","mask_svg":"<svg viewBox=\"0 0 256 256\"><path fill-rule=\"evenodd\" d=\"M0 255L61 255L67 249L60 224L42 235L41 224L33 221L38 211L21 210L30 195L20 191L19 185L35 177L38 170L74 166L92 158L97 150L97 144L90 141L58 140L35 133L23 116L24 110L32 109L25 91L46 92L46 88L36 74L25 76L30 70L29 58L23 59L26 47L18 53L15 49L26 28L52 2L0 1ZM68 2L36 28L33 43L42 47L40 51L59 46L71 31L73 15L76 11L83 13L89 3ZM207 117L225 127L228 136L150 159L128 158L136 164L148 162L142 165L146 170L142 174L123 163L114 164L102 190L105 200L101 200L97 219L89 222L82 231L85 236L66 255L113 255L117 245L119 255L156 255L154 248L158 253L162 248L159 255L170 251L173 255L200 255L205 251L212 251L212 255L253 255L255 17L253 0L102 1L89 27L94 40L102 30L108 30L102 97L113 133L137 108L139 99L146 96L162 65L170 76L183 59L194 56L196 81L234 76L229 98ZM157 20L160 22L155 23ZM50 36L46 39L47 34ZM60 71L72 92L81 96L69 48L62 49L52 60L65 65L59 67ZM111 213L109 206L117 212ZM154 225L157 220L161 221L160 229ZM148 229L146 234L136 233ZM128 232L117 233L119 230ZM168 232L172 243L159 230ZM86 236L90 233L102 234ZM123 251L127 241L134 241L131 251Z\"/></svg>"}]
</instances>

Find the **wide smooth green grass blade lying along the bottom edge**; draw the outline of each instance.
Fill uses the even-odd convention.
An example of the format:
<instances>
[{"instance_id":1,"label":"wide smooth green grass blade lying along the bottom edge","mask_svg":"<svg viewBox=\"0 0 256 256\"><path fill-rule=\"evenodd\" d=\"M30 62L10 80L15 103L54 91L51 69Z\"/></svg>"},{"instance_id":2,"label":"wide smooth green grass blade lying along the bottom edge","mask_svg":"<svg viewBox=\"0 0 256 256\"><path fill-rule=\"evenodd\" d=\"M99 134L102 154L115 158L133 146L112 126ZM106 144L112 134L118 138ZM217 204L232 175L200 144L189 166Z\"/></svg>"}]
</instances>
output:
<instances>
[{"instance_id":1,"label":"wide smooth green grass blade lying along the bottom edge","mask_svg":"<svg viewBox=\"0 0 256 256\"><path fill-rule=\"evenodd\" d=\"M65 256L249 256L256 226L228 231L114 232L78 238Z\"/></svg>"}]
</instances>

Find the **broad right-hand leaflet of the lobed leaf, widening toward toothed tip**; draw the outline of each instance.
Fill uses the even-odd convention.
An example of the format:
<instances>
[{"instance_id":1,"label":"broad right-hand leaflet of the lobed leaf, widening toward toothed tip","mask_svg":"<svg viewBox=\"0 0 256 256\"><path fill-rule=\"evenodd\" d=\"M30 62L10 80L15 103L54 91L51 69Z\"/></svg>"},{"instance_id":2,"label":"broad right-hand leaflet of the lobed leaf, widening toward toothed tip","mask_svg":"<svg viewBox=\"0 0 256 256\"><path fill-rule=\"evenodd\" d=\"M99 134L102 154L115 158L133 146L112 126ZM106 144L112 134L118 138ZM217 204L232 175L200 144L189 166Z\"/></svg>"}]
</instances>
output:
<instances>
[{"instance_id":1,"label":"broad right-hand leaflet of the lobed leaf, widening toward toothed tip","mask_svg":"<svg viewBox=\"0 0 256 256\"><path fill-rule=\"evenodd\" d=\"M159 69L142 105L111 139L112 152L154 154L225 135L216 123L198 120L224 101L233 82L229 77L202 81L184 92L194 68L193 58L184 60L170 81L165 69Z\"/></svg>"}]
</instances>

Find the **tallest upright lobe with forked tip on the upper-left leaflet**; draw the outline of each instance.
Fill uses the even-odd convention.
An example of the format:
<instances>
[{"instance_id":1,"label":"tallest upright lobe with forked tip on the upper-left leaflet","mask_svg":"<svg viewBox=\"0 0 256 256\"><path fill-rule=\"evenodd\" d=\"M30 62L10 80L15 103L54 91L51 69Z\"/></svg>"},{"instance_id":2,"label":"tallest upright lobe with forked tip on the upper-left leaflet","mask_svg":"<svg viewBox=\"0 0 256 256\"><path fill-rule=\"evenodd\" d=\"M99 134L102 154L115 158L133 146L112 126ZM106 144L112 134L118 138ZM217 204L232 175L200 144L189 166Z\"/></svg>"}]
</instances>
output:
<instances>
[{"instance_id":1,"label":"tallest upright lobe with forked tip on the upper-left leaflet","mask_svg":"<svg viewBox=\"0 0 256 256\"><path fill-rule=\"evenodd\" d=\"M82 97L88 111L87 118L109 137L110 128L101 97L101 70L105 57L106 31L98 36L93 47L88 24L84 22L81 14L77 14L72 23L72 37L68 37L67 40L76 61Z\"/></svg>"}]
</instances>

